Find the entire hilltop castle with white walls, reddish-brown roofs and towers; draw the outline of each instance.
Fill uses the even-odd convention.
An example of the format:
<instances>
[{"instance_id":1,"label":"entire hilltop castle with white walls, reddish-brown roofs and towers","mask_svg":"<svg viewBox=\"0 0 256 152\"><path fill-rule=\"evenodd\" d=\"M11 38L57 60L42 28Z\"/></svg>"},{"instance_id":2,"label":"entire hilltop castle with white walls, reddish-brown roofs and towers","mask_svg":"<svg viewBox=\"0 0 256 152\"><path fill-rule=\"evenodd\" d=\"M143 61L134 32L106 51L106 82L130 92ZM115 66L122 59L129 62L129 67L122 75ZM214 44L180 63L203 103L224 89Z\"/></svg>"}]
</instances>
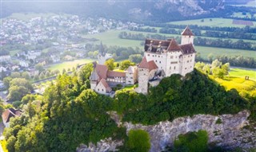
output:
<instances>
[{"instance_id":1,"label":"entire hilltop castle with white walls, reddish-brown roofs and towers","mask_svg":"<svg viewBox=\"0 0 256 152\"><path fill-rule=\"evenodd\" d=\"M96 64L90 76L90 86L95 92L110 94L111 86L116 84L133 85L138 82L135 91L146 94L149 85L156 86L163 77L172 74L186 76L194 69L194 34L188 26L182 32L181 45L174 39L166 41L146 39L144 57L138 66L130 66L126 72L114 72L102 64L106 53L100 51L99 64Z\"/></svg>"}]
</instances>

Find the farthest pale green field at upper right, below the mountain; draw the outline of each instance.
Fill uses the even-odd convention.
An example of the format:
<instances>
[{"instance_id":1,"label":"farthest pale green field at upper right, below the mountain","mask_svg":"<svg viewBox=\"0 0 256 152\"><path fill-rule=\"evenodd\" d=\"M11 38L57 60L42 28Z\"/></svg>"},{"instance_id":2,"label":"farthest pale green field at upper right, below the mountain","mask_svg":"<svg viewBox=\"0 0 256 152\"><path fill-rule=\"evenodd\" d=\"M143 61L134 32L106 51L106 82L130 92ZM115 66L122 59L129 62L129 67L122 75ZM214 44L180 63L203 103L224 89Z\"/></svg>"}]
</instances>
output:
<instances>
[{"instance_id":1,"label":"farthest pale green field at upper right, below the mountain","mask_svg":"<svg viewBox=\"0 0 256 152\"><path fill-rule=\"evenodd\" d=\"M212 19L212 21L210 21ZM221 27L245 27L246 25L234 25L232 24L233 19L228 18L203 18L196 20L186 20L186 21L171 21L170 24L176 25L207 25L207 26L221 26ZM253 21L256 25L256 21Z\"/></svg>"}]
</instances>

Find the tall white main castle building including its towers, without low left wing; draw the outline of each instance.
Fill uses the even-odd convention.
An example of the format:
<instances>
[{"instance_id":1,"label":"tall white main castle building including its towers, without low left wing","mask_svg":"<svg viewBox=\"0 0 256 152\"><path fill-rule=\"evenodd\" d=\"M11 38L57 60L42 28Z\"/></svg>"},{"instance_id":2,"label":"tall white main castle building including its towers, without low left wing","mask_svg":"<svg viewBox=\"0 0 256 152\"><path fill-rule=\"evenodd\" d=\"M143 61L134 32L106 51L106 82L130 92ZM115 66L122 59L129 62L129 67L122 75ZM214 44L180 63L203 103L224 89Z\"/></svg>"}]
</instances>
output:
<instances>
[{"instance_id":1,"label":"tall white main castle building including its towers, without low left wing","mask_svg":"<svg viewBox=\"0 0 256 152\"><path fill-rule=\"evenodd\" d=\"M146 94L149 84L158 85L162 77L180 74L186 76L194 70L194 34L188 26L182 32L182 44L146 39L144 57L138 64L138 88L136 92Z\"/></svg>"}]
</instances>

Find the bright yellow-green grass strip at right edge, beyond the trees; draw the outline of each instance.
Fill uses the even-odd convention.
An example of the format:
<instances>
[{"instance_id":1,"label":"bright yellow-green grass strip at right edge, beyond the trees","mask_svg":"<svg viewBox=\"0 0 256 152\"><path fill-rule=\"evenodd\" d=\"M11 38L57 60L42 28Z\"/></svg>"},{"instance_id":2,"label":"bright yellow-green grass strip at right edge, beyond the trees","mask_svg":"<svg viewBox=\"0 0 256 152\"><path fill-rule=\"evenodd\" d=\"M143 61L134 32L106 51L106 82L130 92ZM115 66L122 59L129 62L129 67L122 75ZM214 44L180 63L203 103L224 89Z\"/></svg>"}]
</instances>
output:
<instances>
[{"instance_id":1,"label":"bright yellow-green grass strip at right edge, beyond the trees","mask_svg":"<svg viewBox=\"0 0 256 152\"><path fill-rule=\"evenodd\" d=\"M241 77L245 78L245 76L249 76L250 80L255 80L256 81L256 71L253 70L246 70L246 69L241 69L241 68L232 68L230 70L230 76L236 76L236 77Z\"/></svg>"}]
</instances>

